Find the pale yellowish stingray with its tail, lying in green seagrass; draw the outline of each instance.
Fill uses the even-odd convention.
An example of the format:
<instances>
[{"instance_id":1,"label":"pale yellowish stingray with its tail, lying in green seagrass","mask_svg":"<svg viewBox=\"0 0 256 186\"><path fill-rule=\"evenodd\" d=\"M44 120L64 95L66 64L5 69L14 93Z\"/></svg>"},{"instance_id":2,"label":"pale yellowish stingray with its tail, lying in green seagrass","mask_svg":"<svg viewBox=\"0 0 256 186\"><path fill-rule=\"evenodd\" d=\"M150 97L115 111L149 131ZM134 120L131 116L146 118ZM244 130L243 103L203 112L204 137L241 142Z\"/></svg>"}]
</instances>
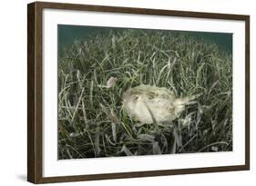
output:
<instances>
[{"instance_id":1,"label":"pale yellowish stingray with its tail, lying in green seagrass","mask_svg":"<svg viewBox=\"0 0 256 186\"><path fill-rule=\"evenodd\" d=\"M197 96L176 98L164 87L139 85L123 94L123 107L130 117L144 123L167 123L179 117Z\"/></svg>"}]
</instances>

